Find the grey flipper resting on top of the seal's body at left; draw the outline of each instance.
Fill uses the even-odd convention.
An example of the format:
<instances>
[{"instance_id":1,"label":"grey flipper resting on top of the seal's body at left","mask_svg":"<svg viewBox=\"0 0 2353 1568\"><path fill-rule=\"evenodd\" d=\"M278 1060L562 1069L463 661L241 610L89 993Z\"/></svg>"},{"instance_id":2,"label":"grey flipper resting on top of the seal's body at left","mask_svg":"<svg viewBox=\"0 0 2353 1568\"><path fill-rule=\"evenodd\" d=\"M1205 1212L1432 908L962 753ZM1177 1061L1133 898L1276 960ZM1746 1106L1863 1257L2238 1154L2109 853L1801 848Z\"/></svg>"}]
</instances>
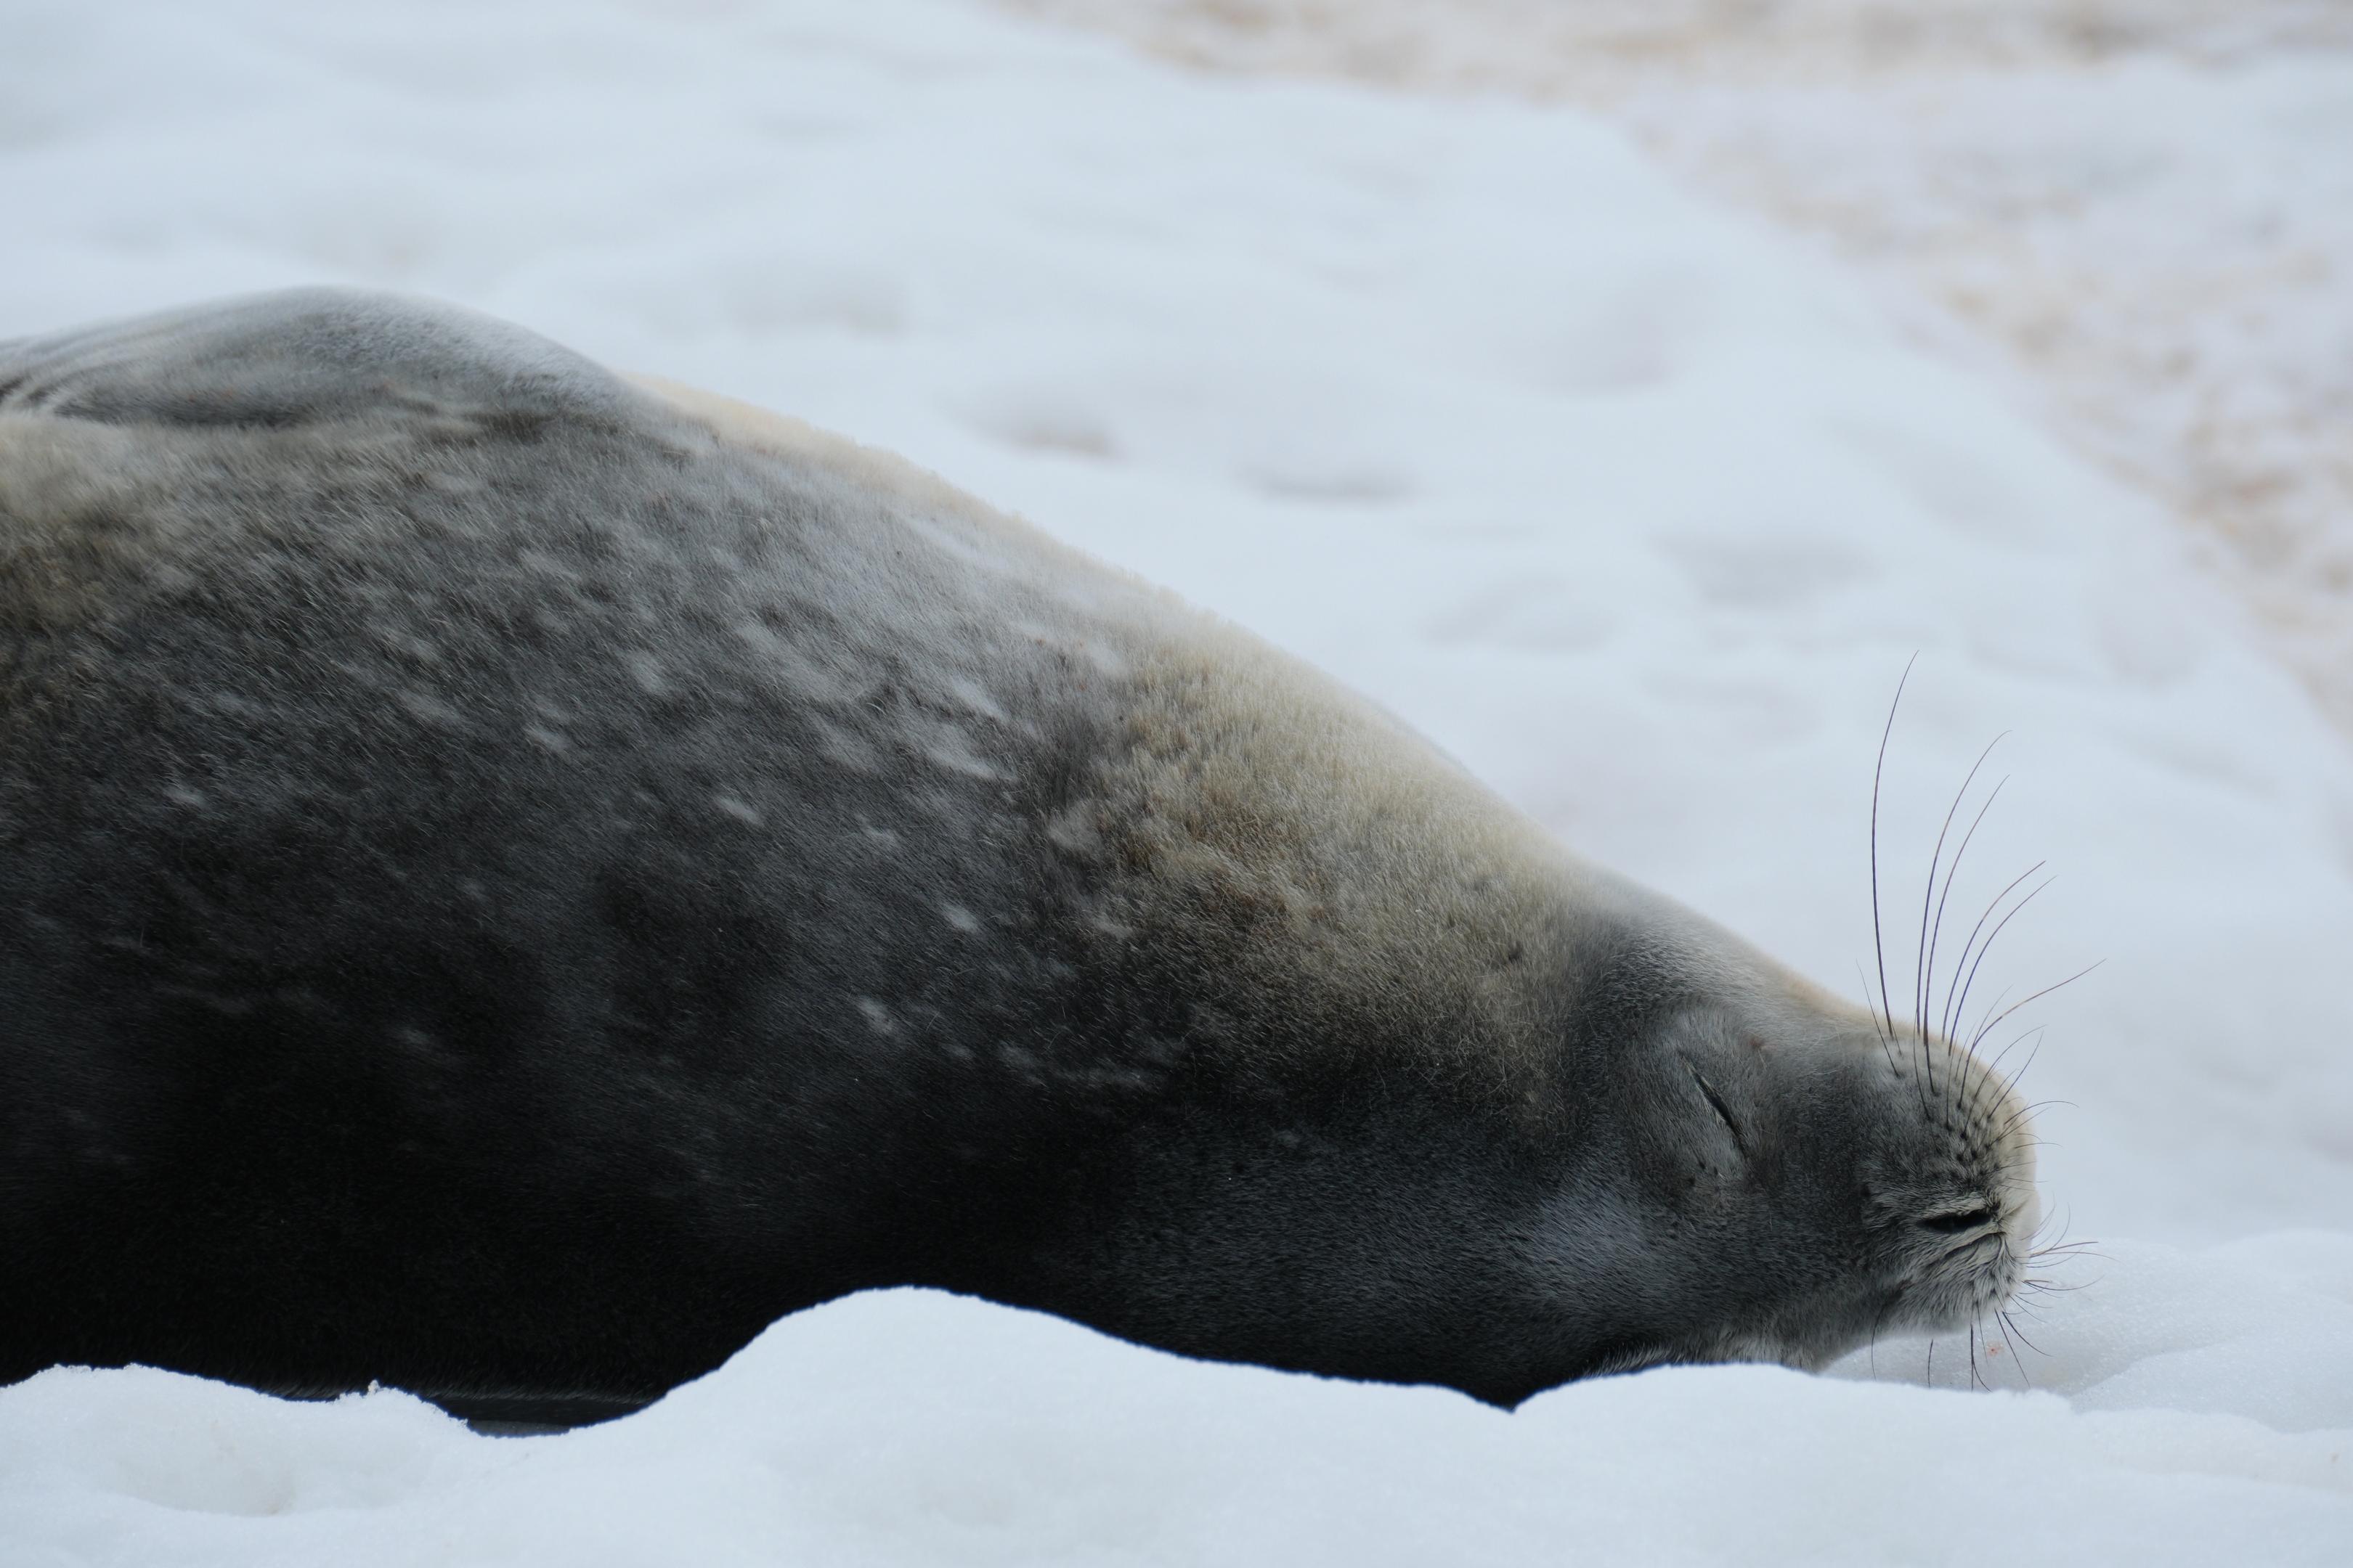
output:
<instances>
[{"instance_id":1,"label":"grey flipper resting on top of the seal's body at left","mask_svg":"<svg viewBox=\"0 0 2353 1568\"><path fill-rule=\"evenodd\" d=\"M280 289L0 341L0 414L299 428L409 409L616 416L642 395L534 331L438 301Z\"/></svg>"}]
</instances>

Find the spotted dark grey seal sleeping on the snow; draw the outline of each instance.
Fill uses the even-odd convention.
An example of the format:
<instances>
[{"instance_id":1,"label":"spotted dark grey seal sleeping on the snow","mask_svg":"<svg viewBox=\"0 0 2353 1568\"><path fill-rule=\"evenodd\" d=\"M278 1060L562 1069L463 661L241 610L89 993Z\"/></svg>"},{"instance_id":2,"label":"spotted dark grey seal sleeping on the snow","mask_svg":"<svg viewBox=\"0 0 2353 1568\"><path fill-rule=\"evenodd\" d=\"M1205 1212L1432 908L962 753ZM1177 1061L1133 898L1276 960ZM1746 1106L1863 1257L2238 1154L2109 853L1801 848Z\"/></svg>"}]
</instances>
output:
<instances>
[{"instance_id":1,"label":"spotted dark grey seal sleeping on the snow","mask_svg":"<svg viewBox=\"0 0 2353 1568\"><path fill-rule=\"evenodd\" d=\"M1819 1366L2021 1279L1918 1011L793 421L374 294L0 343L0 1378L579 1418L896 1284Z\"/></svg>"}]
</instances>

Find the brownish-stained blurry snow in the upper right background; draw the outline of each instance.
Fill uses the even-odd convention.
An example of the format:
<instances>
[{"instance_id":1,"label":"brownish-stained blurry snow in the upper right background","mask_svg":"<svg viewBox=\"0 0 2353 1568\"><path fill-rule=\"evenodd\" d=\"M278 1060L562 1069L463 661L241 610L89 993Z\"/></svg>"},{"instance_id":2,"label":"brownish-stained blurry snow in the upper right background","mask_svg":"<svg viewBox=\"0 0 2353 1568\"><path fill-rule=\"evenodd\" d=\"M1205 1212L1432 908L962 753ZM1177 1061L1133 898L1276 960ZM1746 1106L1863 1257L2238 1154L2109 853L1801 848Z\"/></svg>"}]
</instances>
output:
<instances>
[{"instance_id":1,"label":"brownish-stained blurry snow in the upper right background","mask_svg":"<svg viewBox=\"0 0 2353 1568\"><path fill-rule=\"evenodd\" d=\"M1602 110L2155 498L2353 733L2353 9L1002 2L1219 71Z\"/></svg>"}]
</instances>

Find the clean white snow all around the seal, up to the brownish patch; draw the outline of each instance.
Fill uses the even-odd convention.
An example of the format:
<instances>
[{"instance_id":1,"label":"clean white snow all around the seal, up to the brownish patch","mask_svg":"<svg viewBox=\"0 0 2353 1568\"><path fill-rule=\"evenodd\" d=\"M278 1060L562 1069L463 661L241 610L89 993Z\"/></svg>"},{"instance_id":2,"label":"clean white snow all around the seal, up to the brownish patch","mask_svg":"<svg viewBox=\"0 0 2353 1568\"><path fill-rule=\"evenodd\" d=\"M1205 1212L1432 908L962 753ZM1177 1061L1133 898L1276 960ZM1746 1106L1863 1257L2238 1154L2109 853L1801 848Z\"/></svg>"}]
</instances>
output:
<instances>
[{"instance_id":1,"label":"clean white snow all around the seal, up to the brownish patch","mask_svg":"<svg viewBox=\"0 0 2353 1568\"><path fill-rule=\"evenodd\" d=\"M2353 1559L2353 752L2155 501L1835 259L1581 110L936 0L0 28L0 334L388 284L894 447L1831 985L1918 654L1892 987L1998 733L1955 903L2061 877L1979 985L2104 959L2014 1020L2099 1239L2033 1347L1501 1413L880 1293L546 1439L52 1371L0 1389L12 1568Z\"/></svg>"}]
</instances>

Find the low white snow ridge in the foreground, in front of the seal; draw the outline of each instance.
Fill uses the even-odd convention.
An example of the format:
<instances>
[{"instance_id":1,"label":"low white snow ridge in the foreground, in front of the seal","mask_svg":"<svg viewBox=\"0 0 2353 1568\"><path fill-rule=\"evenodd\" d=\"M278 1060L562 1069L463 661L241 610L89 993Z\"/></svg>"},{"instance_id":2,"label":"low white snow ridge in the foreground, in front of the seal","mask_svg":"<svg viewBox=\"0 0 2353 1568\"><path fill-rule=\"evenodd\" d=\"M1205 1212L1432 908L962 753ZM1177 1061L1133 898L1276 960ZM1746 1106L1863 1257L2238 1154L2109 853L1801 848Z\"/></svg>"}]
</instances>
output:
<instances>
[{"instance_id":1,"label":"low white snow ridge in the foreground, in front of the seal","mask_svg":"<svg viewBox=\"0 0 2353 1568\"><path fill-rule=\"evenodd\" d=\"M640 1415L546 1439L391 1392L61 1368L0 1389L0 1535L28 1566L2344 1561L2353 1300L2294 1276L2341 1286L2346 1246L2271 1251L2122 1248L2137 1288L2195 1307L2047 1312L2066 1399L1729 1366L1506 1413L934 1291L802 1312ZM2282 1307L2332 1363L2249 1354ZM2214 1401L2118 1394L2141 1373Z\"/></svg>"}]
</instances>

